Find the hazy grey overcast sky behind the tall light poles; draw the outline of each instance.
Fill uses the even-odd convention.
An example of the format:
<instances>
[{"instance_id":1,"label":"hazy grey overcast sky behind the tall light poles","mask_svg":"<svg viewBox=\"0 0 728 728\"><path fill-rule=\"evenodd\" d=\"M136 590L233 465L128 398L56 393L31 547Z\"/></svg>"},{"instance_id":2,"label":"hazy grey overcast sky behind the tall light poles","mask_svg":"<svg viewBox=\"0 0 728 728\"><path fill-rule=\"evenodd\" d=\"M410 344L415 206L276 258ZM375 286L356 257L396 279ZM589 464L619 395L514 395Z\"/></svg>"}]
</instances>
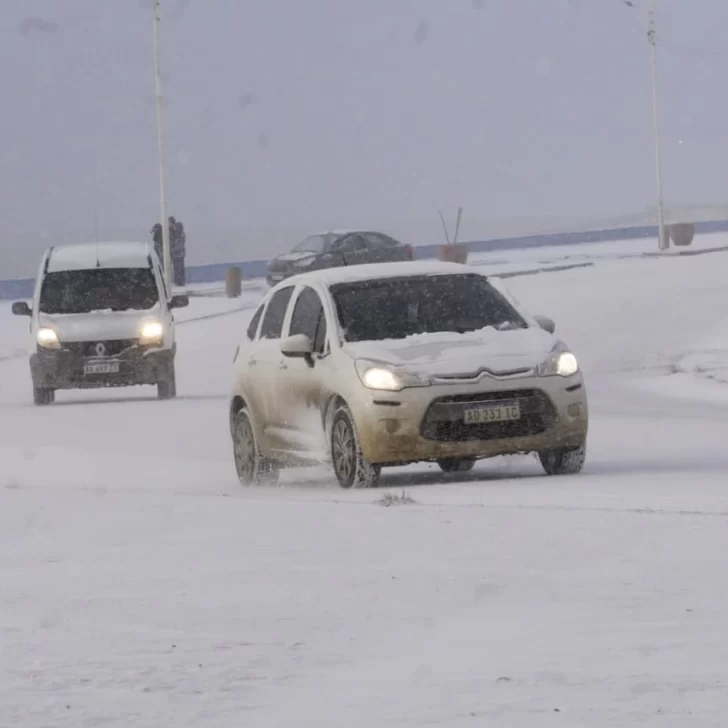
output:
<instances>
[{"instance_id":1,"label":"hazy grey overcast sky behind the tall light poles","mask_svg":"<svg viewBox=\"0 0 728 728\"><path fill-rule=\"evenodd\" d=\"M191 262L367 225L437 242L654 204L646 13L622 0L162 0ZM728 201L728 3L658 0L665 188ZM149 0L0 3L0 278L159 215ZM490 225L490 228L489 228ZM3 275L3 272L6 275Z\"/></svg>"}]
</instances>

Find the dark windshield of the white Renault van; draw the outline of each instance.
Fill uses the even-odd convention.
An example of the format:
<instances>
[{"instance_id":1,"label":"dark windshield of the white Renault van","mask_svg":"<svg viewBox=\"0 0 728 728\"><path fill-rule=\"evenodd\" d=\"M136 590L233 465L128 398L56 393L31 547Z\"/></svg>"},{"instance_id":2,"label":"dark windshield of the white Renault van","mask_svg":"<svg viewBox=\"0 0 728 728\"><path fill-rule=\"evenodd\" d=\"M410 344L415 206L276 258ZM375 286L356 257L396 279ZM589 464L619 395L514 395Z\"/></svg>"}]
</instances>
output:
<instances>
[{"instance_id":1,"label":"dark windshield of the white Renault van","mask_svg":"<svg viewBox=\"0 0 728 728\"><path fill-rule=\"evenodd\" d=\"M152 308L159 300L148 268L94 268L48 273L40 311L49 314Z\"/></svg>"}]
</instances>

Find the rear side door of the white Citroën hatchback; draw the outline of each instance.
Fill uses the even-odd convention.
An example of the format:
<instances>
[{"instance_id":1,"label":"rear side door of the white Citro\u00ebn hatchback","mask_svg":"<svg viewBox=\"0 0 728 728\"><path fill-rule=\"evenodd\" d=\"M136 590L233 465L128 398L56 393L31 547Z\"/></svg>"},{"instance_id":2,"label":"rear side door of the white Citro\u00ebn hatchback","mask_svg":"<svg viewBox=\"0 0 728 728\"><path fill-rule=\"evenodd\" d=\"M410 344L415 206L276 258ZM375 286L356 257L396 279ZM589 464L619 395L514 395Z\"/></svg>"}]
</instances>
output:
<instances>
[{"instance_id":1,"label":"rear side door of the white Citro\u00ebn hatchback","mask_svg":"<svg viewBox=\"0 0 728 728\"><path fill-rule=\"evenodd\" d=\"M270 297L257 337L248 349L245 396L262 440L261 447L266 451L277 446L275 432L279 408L276 382L281 359L281 333L293 291L294 286L286 286Z\"/></svg>"}]
</instances>

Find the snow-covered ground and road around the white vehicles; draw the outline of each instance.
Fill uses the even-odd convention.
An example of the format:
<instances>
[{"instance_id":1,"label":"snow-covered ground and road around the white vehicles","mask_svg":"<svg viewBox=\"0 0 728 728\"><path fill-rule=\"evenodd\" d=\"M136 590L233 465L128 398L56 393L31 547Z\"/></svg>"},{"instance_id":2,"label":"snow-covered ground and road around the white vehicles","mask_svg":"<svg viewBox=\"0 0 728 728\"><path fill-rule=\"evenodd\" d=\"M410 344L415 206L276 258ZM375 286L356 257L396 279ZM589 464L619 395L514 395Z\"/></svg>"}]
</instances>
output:
<instances>
[{"instance_id":1,"label":"snow-covered ground and road around the white vehicles","mask_svg":"<svg viewBox=\"0 0 728 728\"><path fill-rule=\"evenodd\" d=\"M509 280L587 376L563 479L511 458L245 490L227 391L259 294L179 312L169 402L32 407L1 308L0 725L723 726L724 255Z\"/></svg>"}]
</instances>

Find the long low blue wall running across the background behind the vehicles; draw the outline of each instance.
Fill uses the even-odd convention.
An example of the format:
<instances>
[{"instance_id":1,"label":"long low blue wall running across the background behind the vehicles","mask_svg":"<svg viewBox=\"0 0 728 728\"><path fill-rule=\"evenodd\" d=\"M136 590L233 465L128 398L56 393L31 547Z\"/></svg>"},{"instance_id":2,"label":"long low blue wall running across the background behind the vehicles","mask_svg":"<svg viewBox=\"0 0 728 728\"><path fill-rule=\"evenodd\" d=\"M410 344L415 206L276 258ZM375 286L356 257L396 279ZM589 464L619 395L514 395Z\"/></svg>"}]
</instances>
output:
<instances>
[{"instance_id":1,"label":"long low blue wall running across the background behind the vehicles","mask_svg":"<svg viewBox=\"0 0 728 728\"><path fill-rule=\"evenodd\" d=\"M728 232L728 220L696 223L697 234ZM476 240L466 243L471 253L488 253L505 250L526 250L529 248L545 248L553 245L582 245L584 243L606 243L619 240L638 240L656 238L657 227L645 225L641 227L624 227L611 230L592 230L576 233L549 233L547 235L527 235L520 238L495 238L493 240ZM415 257L418 259L434 258L438 245L418 245ZM230 263L213 263L196 265L187 268L188 283L215 283L225 279L225 270L237 266L242 270L244 278L260 278L265 275L268 260L233 261ZM0 299L13 300L31 298L34 282L30 278L0 281Z\"/></svg>"}]
</instances>

